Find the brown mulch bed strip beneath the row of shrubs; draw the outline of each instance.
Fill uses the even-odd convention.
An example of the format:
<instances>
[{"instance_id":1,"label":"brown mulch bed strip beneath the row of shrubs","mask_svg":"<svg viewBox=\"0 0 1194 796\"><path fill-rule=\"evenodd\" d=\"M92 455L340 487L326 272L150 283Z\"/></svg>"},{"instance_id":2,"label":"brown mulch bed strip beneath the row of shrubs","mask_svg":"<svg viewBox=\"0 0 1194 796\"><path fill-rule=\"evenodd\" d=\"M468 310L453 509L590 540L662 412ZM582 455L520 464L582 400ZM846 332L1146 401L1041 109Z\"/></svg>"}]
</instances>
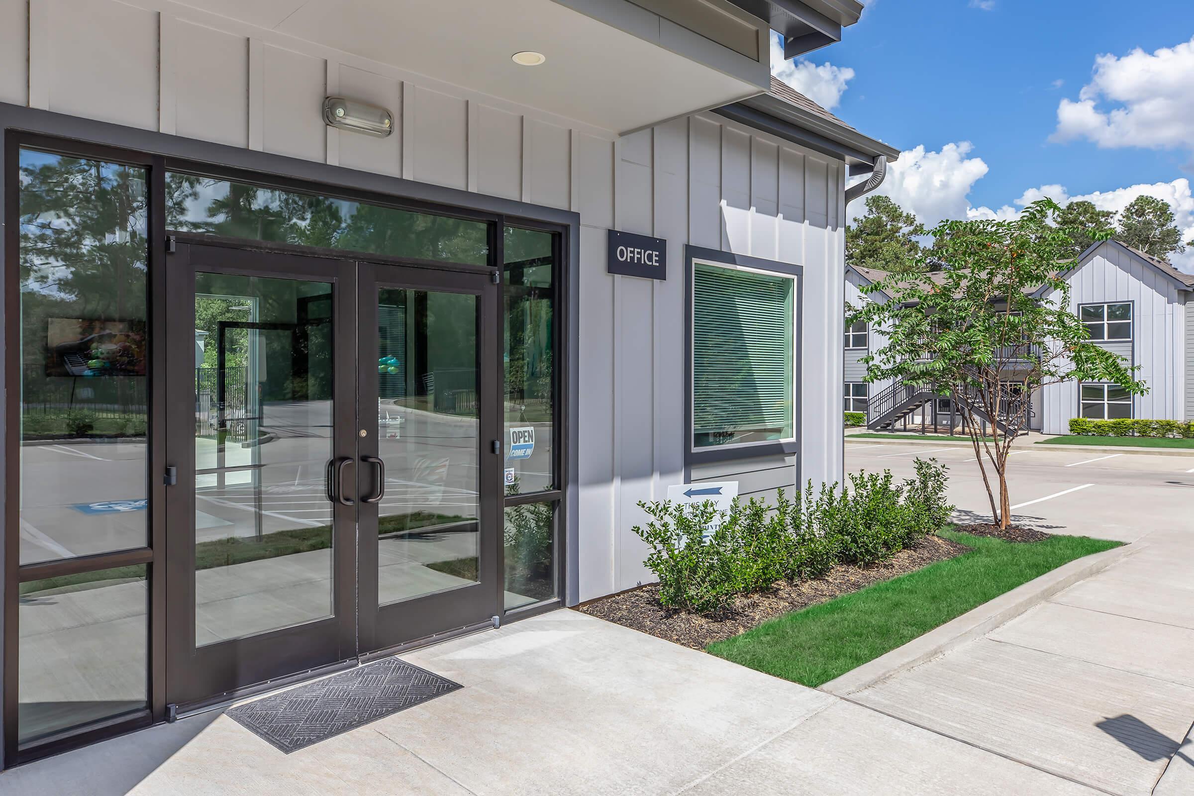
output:
<instances>
[{"instance_id":1,"label":"brown mulch bed strip beneath the row of shrubs","mask_svg":"<svg viewBox=\"0 0 1194 796\"><path fill-rule=\"evenodd\" d=\"M665 609L659 586L648 585L578 606L583 613L666 638L684 647L704 649L790 611L850 594L881 580L953 559L970 550L940 536L927 536L912 547L873 567L838 564L823 578L800 582L780 581L768 592L744 594L722 616L700 616Z\"/></svg>"}]
</instances>

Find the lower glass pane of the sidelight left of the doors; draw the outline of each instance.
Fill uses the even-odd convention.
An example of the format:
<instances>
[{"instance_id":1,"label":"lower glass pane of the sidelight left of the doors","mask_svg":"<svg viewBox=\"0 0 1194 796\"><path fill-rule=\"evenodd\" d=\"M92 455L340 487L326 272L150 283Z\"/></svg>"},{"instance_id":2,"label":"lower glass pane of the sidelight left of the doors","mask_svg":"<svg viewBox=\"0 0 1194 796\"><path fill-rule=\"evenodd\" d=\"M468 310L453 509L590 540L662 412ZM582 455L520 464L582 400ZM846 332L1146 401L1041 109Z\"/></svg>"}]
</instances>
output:
<instances>
[{"instance_id":1,"label":"lower glass pane of the sidelight left of the doors","mask_svg":"<svg viewBox=\"0 0 1194 796\"><path fill-rule=\"evenodd\" d=\"M144 566L20 585L20 745L147 706L148 609Z\"/></svg>"}]
</instances>

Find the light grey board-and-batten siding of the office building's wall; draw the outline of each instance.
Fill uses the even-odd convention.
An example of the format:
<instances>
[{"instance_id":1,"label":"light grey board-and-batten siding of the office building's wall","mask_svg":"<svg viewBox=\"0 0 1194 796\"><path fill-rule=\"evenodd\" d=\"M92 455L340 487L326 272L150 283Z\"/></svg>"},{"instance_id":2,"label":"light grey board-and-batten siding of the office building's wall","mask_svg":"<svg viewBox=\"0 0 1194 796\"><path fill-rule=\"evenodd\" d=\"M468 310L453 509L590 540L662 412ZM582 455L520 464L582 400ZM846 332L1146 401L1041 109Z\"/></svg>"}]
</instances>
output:
<instances>
[{"instance_id":1,"label":"light grey board-and-batten siding of the office building's wall","mask_svg":"<svg viewBox=\"0 0 1194 796\"><path fill-rule=\"evenodd\" d=\"M325 127L330 93L390 109L394 134ZM0 101L578 212L573 598L653 579L630 530L646 518L636 504L685 477L685 243L804 266L799 469L842 479L838 161L713 113L618 138L168 0L0 0ZM608 228L665 237L669 278L608 274ZM764 494L792 486L796 464L745 459L691 475Z\"/></svg>"}]
</instances>

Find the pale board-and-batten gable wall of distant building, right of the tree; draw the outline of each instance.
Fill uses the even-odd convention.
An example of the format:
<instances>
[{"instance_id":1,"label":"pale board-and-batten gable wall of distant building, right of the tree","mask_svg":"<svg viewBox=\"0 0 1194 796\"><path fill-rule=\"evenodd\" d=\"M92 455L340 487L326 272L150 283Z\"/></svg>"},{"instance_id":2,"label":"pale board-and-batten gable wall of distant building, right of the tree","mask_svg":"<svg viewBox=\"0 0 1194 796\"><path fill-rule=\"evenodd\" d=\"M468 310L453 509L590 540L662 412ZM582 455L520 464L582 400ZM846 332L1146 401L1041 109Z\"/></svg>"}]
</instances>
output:
<instances>
[{"instance_id":1,"label":"pale board-and-batten gable wall of distant building, right of the tree","mask_svg":"<svg viewBox=\"0 0 1194 796\"><path fill-rule=\"evenodd\" d=\"M1133 416L1184 420L1188 368L1186 363L1187 291L1144 259L1113 242L1096 248L1087 261L1066 277L1070 309L1079 304L1132 302L1131 343L1106 343L1104 348L1139 365L1137 378L1149 391L1133 401ZM1078 384L1064 382L1044 388L1042 431L1066 434L1070 420L1079 415Z\"/></svg>"}]
</instances>

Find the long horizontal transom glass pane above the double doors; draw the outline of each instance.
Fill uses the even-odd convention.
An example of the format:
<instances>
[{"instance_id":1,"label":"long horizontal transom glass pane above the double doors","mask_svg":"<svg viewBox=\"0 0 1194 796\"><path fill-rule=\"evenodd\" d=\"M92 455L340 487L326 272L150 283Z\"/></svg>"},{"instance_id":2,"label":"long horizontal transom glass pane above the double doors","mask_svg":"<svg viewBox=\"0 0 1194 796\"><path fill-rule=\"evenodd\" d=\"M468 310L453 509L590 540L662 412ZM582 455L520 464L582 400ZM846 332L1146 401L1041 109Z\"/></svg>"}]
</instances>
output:
<instances>
[{"instance_id":1,"label":"long horizontal transom glass pane above the double doors","mask_svg":"<svg viewBox=\"0 0 1194 796\"><path fill-rule=\"evenodd\" d=\"M488 265L488 224L296 193L210 177L166 174L166 227L177 232L384 257Z\"/></svg>"}]
</instances>

